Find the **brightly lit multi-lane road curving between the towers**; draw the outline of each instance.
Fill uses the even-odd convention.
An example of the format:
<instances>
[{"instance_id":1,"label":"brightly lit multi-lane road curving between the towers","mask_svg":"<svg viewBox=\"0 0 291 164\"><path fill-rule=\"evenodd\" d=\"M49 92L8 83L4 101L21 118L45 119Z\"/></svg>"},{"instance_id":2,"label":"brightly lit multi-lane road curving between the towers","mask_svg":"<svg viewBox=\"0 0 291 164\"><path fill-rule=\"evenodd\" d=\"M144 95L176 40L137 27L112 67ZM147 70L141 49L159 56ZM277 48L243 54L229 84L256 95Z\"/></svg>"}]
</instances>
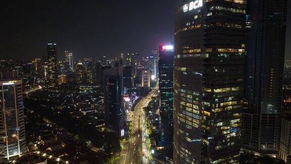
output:
<instances>
[{"instance_id":1,"label":"brightly lit multi-lane road curving between the towers","mask_svg":"<svg viewBox=\"0 0 291 164\"><path fill-rule=\"evenodd\" d=\"M122 156L119 163L150 163L150 150L147 145L146 116L143 107L148 106L153 96L157 96L158 89L153 89L146 97L143 97L134 107L132 112L132 133L128 142L123 145Z\"/></svg>"}]
</instances>

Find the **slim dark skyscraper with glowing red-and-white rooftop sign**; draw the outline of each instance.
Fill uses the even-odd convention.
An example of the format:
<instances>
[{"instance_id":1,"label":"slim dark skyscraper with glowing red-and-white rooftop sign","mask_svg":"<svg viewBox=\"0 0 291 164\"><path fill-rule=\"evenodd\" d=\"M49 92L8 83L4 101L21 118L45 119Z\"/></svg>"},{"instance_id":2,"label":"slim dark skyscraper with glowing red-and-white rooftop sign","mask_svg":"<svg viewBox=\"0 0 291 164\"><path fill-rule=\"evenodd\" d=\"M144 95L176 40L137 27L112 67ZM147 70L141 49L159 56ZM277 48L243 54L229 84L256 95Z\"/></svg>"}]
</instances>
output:
<instances>
[{"instance_id":1,"label":"slim dark skyscraper with glowing red-and-white rooftop sign","mask_svg":"<svg viewBox=\"0 0 291 164\"><path fill-rule=\"evenodd\" d=\"M173 100L174 100L174 48L173 46L160 46L159 54L159 90L162 116L162 144L167 145L169 133L173 126ZM171 135L170 135L171 134Z\"/></svg>"}]
</instances>

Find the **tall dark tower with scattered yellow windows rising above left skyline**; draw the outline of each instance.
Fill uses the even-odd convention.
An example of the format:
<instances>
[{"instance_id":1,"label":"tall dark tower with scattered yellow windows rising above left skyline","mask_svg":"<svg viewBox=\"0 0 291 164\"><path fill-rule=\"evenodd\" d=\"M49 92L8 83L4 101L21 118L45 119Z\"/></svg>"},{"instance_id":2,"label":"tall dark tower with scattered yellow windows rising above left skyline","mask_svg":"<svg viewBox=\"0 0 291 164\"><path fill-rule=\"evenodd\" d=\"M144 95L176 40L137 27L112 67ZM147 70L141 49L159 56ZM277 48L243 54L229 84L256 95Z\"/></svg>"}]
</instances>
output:
<instances>
[{"instance_id":1,"label":"tall dark tower with scattered yellow windows rising above left skyline","mask_svg":"<svg viewBox=\"0 0 291 164\"><path fill-rule=\"evenodd\" d=\"M44 59L45 85L56 88L58 85L57 44L47 44L47 54Z\"/></svg>"}]
</instances>

